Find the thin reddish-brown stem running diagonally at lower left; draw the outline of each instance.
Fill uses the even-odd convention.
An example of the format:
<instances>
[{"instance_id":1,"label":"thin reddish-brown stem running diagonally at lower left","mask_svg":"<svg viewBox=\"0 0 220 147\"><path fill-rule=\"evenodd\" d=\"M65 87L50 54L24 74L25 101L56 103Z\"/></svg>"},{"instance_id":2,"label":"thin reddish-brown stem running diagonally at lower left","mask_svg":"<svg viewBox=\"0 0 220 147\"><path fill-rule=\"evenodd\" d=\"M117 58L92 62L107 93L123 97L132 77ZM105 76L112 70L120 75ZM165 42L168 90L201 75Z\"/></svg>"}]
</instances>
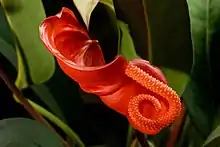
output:
<instances>
[{"instance_id":1,"label":"thin reddish-brown stem running diagonally at lower left","mask_svg":"<svg viewBox=\"0 0 220 147\"><path fill-rule=\"evenodd\" d=\"M35 111L35 109L29 104L29 102L24 98L21 91L15 86L15 84L10 80L10 78L5 74L3 71L1 65L0 65L0 78L5 82L7 87L14 93L14 95L17 97L17 99L20 101L20 103L24 106L24 108L28 111L28 113L38 122L46 125L49 127L52 131L54 131L56 134L58 134L54 128L38 113ZM66 147L69 147L69 145L66 143L66 141L58 134L61 141Z\"/></svg>"}]
</instances>

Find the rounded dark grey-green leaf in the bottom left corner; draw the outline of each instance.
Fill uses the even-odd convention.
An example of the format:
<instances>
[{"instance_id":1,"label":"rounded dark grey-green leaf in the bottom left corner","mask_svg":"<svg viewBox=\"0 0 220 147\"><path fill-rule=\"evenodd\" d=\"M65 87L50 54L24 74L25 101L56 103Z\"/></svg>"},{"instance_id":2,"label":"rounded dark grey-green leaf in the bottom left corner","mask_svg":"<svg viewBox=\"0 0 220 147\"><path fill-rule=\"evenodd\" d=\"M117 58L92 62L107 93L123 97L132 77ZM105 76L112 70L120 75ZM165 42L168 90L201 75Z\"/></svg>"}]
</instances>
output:
<instances>
[{"instance_id":1,"label":"rounded dark grey-green leaf in the bottom left corner","mask_svg":"<svg viewBox=\"0 0 220 147\"><path fill-rule=\"evenodd\" d=\"M0 121L1 147L64 147L46 126L25 118Z\"/></svg>"}]
</instances>

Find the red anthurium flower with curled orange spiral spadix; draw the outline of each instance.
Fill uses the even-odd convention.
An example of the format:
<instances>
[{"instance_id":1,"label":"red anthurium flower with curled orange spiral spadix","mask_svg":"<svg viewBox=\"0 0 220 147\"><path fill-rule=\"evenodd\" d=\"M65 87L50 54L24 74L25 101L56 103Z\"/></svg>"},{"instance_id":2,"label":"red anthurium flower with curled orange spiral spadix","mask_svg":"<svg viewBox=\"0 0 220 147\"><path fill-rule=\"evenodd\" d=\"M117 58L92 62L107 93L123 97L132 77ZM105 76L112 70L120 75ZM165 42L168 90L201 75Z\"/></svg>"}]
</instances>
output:
<instances>
[{"instance_id":1,"label":"red anthurium flower with curled orange spiral spadix","mask_svg":"<svg viewBox=\"0 0 220 147\"><path fill-rule=\"evenodd\" d=\"M98 95L137 130L156 134L179 115L180 98L159 68L143 59L126 61L123 56L105 63L98 41L90 39L71 10L63 8L46 18L40 38L82 90Z\"/></svg>"}]
</instances>

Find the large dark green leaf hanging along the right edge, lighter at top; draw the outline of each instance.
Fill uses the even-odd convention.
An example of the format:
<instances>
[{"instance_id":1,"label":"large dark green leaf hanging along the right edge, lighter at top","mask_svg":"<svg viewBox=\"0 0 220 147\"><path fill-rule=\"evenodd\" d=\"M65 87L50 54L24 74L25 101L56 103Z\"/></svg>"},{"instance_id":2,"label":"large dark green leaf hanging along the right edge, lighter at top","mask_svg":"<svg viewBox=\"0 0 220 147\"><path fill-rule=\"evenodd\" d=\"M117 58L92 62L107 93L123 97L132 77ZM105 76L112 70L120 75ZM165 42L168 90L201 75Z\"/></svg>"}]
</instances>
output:
<instances>
[{"instance_id":1,"label":"large dark green leaf hanging along the right edge, lighter at top","mask_svg":"<svg viewBox=\"0 0 220 147\"><path fill-rule=\"evenodd\" d=\"M192 80L184 93L184 101L196 128L204 137L213 128L219 105L220 2L188 0L194 48Z\"/></svg>"}]
</instances>

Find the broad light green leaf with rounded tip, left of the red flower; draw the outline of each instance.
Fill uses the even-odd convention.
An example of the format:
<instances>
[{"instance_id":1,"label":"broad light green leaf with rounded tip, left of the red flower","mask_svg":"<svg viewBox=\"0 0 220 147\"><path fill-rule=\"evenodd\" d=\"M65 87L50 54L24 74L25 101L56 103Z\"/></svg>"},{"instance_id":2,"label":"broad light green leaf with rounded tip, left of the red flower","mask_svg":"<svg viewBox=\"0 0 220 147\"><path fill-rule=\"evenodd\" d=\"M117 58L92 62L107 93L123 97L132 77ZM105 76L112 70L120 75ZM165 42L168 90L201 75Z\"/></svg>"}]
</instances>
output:
<instances>
[{"instance_id":1,"label":"broad light green leaf with rounded tip, left of the red flower","mask_svg":"<svg viewBox=\"0 0 220 147\"><path fill-rule=\"evenodd\" d=\"M39 37L39 25L45 19L41 0L1 0L1 4L18 38L32 82L47 81L54 73L55 61Z\"/></svg>"}]
</instances>

